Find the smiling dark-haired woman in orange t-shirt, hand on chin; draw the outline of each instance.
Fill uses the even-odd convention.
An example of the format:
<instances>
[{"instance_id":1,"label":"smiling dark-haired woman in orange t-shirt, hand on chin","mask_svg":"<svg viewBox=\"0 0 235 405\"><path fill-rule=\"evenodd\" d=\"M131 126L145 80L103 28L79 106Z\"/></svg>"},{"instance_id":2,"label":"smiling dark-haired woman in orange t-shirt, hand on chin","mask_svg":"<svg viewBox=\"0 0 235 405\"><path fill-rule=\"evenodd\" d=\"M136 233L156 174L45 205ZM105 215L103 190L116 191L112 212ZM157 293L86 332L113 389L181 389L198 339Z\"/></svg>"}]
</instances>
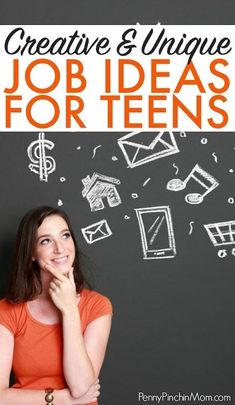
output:
<instances>
[{"instance_id":1,"label":"smiling dark-haired woman in orange t-shirt, hand on chin","mask_svg":"<svg viewBox=\"0 0 235 405\"><path fill-rule=\"evenodd\" d=\"M112 306L85 285L67 215L29 211L0 301L0 405L97 404Z\"/></svg>"}]
</instances>

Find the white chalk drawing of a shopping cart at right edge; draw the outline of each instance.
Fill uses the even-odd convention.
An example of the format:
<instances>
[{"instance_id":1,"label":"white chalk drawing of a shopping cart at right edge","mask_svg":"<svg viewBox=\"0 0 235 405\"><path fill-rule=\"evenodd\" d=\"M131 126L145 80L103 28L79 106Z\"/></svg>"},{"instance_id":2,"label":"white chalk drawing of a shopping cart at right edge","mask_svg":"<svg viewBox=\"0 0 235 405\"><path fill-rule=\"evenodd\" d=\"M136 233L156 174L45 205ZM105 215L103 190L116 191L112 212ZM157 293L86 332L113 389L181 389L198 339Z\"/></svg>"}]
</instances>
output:
<instances>
[{"instance_id":1,"label":"white chalk drawing of a shopping cart at right edge","mask_svg":"<svg viewBox=\"0 0 235 405\"><path fill-rule=\"evenodd\" d=\"M206 224L204 228L215 247L235 244L235 221ZM221 249L217 254L220 258L224 258L227 256L227 249Z\"/></svg>"}]
</instances>

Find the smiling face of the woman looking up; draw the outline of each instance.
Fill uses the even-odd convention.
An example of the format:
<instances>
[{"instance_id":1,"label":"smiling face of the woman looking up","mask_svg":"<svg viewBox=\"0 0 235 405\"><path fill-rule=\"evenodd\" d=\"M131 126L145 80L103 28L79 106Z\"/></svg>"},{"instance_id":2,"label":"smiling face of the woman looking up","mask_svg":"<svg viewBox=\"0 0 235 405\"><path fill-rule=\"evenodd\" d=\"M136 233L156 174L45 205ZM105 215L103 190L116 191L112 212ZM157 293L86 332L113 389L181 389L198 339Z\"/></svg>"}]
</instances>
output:
<instances>
[{"instance_id":1,"label":"smiling face of the woman looking up","mask_svg":"<svg viewBox=\"0 0 235 405\"><path fill-rule=\"evenodd\" d=\"M63 274L71 269L75 246L66 221L59 215L46 217L38 227L33 260L41 269L51 264Z\"/></svg>"}]
</instances>

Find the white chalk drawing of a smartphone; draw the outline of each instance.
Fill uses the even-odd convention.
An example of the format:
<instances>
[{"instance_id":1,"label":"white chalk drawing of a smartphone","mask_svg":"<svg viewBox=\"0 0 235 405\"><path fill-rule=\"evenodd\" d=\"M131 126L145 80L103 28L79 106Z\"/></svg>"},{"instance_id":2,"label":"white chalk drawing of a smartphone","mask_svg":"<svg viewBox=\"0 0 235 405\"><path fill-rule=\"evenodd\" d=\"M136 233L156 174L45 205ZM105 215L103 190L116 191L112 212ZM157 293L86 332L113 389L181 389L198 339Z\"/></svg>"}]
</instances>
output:
<instances>
[{"instance_id":1,"label":"white chalk drawing of a smartphone","mask_svg":"<svg viewBox=\"0 0 235 405\"><path fill-rule=\"evenodd\" d=\"M143 259L175 257L176 247L172 218L168 206L136 208Z\"/></svg>"}]
</instances>

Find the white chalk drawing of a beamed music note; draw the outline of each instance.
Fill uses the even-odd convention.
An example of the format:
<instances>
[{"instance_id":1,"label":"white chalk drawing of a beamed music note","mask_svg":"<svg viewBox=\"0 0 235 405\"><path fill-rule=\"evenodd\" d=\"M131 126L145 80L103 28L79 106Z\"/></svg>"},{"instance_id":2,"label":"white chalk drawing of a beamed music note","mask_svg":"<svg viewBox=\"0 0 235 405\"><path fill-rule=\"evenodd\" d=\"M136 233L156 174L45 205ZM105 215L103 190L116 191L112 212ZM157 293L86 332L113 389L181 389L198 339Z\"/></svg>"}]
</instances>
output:
<instances>
[{"instance_id":1,"label":"white chalk drawing of a beamed music note","mask_svg":"<svg viewBox=\"0 0 235 405\"><path fill-rule=\"evenodd\" d=\"M185 180L172 179L167 183L167 190L170 191L181 191L188 186L188 182L193 180L197 183L197 188L199 185L202 187L202 193L193 192L185 196L185 201L188 204L200 204L203 202L204 197L214 190L218 185L218 180L215 179L211 174L207 173L198 164L194 166L192 171L186 177ZM206 191L204 191L206 190Z\"/></svg>"}]
</instances>

